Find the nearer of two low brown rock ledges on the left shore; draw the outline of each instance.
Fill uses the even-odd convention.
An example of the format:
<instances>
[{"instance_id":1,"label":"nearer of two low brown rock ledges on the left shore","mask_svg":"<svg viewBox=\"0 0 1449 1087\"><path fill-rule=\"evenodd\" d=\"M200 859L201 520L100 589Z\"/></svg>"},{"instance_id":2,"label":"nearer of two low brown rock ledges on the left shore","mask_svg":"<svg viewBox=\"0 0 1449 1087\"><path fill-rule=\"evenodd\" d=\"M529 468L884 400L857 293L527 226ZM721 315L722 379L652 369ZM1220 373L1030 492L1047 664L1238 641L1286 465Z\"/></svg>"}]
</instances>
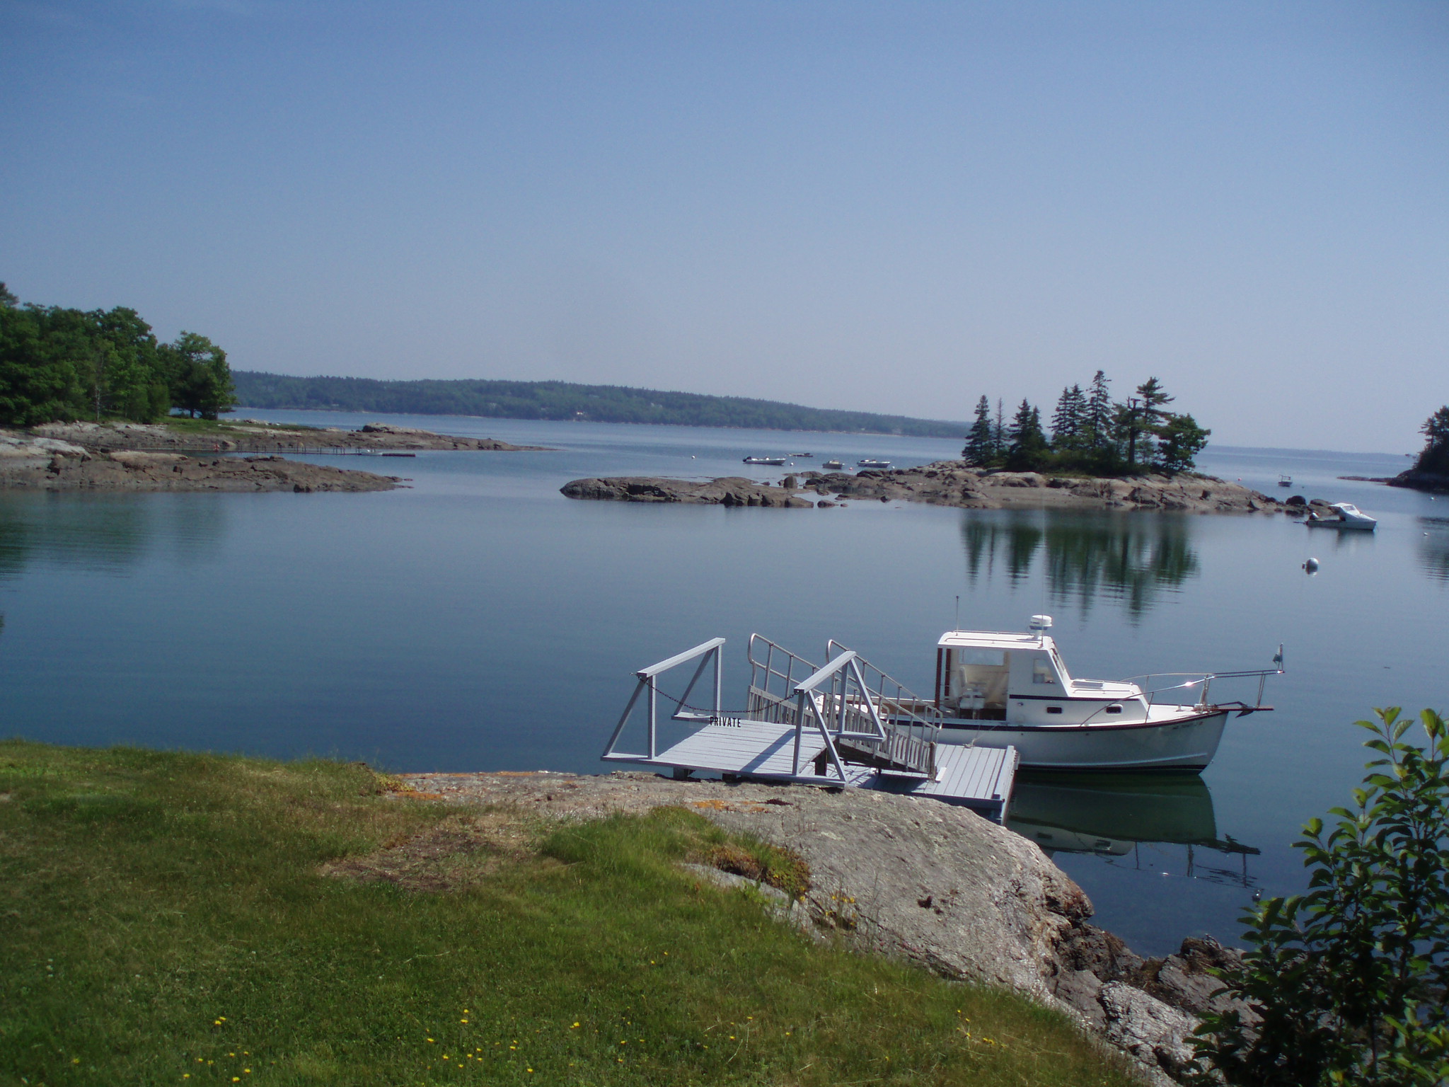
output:
<instances>
[{"instance_id":1,"label":"nearer of two low brown rock ledges on the left shore","mask_svg":"<svg viewBox=\"0 0 1449 1087\"><path fill-rule=\"evenodd\" d=\"M394 475L281 457L197 458L117 449L93 454L52 438L0 435L0 488L106 491L383 491Z\"/></svg>"}]
</instances>

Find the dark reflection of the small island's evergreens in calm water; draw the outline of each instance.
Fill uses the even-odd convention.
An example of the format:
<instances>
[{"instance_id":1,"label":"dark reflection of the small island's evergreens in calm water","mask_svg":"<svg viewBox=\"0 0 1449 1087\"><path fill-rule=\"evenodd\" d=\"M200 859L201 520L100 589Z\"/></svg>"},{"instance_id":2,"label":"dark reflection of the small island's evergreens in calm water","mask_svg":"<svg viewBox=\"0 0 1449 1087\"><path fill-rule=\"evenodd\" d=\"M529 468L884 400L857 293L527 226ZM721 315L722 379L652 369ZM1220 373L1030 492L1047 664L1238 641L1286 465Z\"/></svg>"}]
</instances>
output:
<instances>
[{"instance_id":1,"label":"dark reflection of the small island's evergreens in calm water","mask_svg":"<svg viewBox=\"0 0 1449 1087\"><path fill-rule=\"evenodd\" d=\"M998 565L1022 581L1040 557L1053 600L1077 600L1085 613L1101 596L1120 600L1132 617L1198 574L1188 532L1181 517L1077 510L966 513L961 520L971 584L990 581Z\"/></svg>"}]
</instances>

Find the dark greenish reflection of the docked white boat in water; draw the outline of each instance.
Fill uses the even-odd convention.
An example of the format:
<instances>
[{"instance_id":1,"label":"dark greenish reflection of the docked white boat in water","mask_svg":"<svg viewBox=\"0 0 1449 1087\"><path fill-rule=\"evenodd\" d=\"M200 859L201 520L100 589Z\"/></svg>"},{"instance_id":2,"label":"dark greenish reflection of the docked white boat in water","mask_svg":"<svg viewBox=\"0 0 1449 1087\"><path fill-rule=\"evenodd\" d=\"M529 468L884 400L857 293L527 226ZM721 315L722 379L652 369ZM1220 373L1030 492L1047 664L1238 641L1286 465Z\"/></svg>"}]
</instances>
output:
<instances>
[{"instance_id":1,"label":"dark greenish reflection of the docked white boat in water","mask_svg":"<svg viewBox=\"0 0 1449 1087\"><path fill-rule=\"evenodd\" d=\"M1213 794L1197 775L1023 774L1006 825L1048 857L1094 854L1127 868L1161 871L1162 849L1143 865L1142 846L1181 846L1182 875L1242 887L1252 886L1248 858L1259 852L1219 838Z\"/></svg>"}]
</instances>

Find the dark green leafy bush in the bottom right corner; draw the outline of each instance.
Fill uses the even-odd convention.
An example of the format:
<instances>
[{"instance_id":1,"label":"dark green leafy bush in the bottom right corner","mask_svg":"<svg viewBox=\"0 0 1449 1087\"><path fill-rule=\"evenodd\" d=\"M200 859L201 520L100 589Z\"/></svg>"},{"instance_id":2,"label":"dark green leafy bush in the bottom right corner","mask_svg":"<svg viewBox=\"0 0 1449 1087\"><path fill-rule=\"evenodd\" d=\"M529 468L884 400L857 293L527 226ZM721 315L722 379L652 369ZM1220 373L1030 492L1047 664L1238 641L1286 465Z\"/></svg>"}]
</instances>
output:
<instances>
[{"instance_id":1,"label":"dark green leafy bush in the bottom right corner","mask_svg":"<svg viewBox=\"0 0 1449 1087\"><path fill-rule=\"evenodd\" d=\"M1295 844L1307 894L1245 916L1250 945L1226 993L1249 1015L1208 1015L1200 1059L1229 1084L1449 1083L1449 730L1420 713L1375 710L1353 807L1314 819ZM1214 1078L1203 1071L1203 1083Z\"/></svg>"}]
</instances>

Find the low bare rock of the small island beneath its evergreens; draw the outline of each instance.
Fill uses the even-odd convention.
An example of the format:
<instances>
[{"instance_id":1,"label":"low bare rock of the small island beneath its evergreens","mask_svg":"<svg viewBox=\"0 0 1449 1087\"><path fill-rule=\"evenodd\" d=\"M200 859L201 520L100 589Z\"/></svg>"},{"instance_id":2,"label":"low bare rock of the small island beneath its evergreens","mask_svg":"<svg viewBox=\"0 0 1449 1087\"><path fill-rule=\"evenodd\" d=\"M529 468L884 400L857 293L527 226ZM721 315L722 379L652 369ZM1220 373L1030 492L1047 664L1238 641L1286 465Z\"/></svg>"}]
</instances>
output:
<instances>
[{"instance_id":1,"label":"low bare rock of the small island beneath its evergreens","mask_svg":"<svg viewBox=\"0 0 1449 1087\"><path fill-rule=\"evenodd\" d=\"M659 477L572 480L571 499L681 501L717 506L830 507L845 500L924 501L961 509L1120 509L1181 513L1278 513L1284 504L1266 494L1211 475L1133 475L1091 478L974 468L938 461L920 468L851 472L801 472L780 486L743 477L710 481Z\"/></svg>"}]
</instances>

